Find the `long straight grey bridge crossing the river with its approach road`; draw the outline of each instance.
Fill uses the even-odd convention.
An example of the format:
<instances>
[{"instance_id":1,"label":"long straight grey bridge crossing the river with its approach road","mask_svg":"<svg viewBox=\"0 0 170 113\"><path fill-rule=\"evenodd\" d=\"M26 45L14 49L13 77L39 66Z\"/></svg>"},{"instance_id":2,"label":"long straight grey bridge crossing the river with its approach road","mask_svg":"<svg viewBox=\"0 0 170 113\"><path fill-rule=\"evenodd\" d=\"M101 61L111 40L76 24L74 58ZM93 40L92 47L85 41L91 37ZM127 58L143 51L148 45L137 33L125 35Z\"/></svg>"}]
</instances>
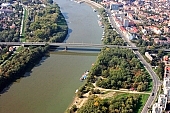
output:
<instances>
[{"instance_id":1,"label":"long straight grey bridge crossing the river with its approach road","mask_svg":"<svg viewBox=\"0 0 170 113\"><path fill-rule=\"evenodd\" d=\"M94 43L52 43L52 42L0 42L0 45L9 45L9 46L45 46L49 45L50 47L74 47L74 48L97 48L102 49L103 47L110 47L110 48L129 48L132 50L138 50L139 47L132 47L132 46L120 46L120 45L104 45L104 44L94 44ZM165 52L170 52L170 49L156 49L156 50L163 50Z\"/></svg>"}]
</instances>

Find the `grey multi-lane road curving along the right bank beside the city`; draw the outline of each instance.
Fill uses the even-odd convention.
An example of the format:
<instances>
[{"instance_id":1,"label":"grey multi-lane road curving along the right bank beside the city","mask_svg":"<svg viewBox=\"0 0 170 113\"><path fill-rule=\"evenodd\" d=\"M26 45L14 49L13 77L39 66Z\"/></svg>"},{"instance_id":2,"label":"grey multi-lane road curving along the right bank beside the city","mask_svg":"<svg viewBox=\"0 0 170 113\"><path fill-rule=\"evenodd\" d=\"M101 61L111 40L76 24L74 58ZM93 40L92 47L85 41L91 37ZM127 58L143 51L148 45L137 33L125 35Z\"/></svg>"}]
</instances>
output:
<instances>
[{"instance_id":1,"label":"grey multi-lane road curving along the right bank beside the city","mask_svg":"<svg viewBox=\"0 0 170 113\"><path fill-rule=\"evenodd\" d=\"M111 16L111 12L109 9L106 9L107 13L109 15L110 18L110 22L111 25L115 27L115 29L117 30L117 32L120 34L120 36L127 42L127 44L131 47L136 47L135 44L133 44L131 41L129 41L126 36L120 31L120 29L116 26L113 17ZM149 63L146 62L146 60L143 58L143 56L140 54L140 52L138 50L134 51L134 53L136 54L136 56L140 59L141 63L144 65L145 69L148 71L148 73L150 74L152 81L153 81L153 88L152 88L152 92L151 95L149 96L145 106L143 107L143 110L141 113L147 113L148 112L148 107L151 107L151 105L153 104L154 100L157 97L157 92L159 90L159 86L161 85L161 81L159 80L158 76L156 75L156 73L152 70L152 67ZM153 94L153 95L152 95Z\"/></svg>"}]
</instances>

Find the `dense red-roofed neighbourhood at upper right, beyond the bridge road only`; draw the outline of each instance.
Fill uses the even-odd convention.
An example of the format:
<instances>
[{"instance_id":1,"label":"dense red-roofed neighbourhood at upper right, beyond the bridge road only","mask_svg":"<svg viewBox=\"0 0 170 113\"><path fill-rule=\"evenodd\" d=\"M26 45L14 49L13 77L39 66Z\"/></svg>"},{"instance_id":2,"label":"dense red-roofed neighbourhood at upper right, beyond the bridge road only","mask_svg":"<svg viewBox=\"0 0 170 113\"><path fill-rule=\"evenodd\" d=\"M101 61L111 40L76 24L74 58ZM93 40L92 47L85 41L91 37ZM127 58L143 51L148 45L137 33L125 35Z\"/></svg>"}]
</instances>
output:
<instances>
[{"instance_id":1,"label":"dense red-roofed neighbourhood at upper right, beyond the bridge road only","mask_svg":"<svg viewBox=\"0 0 170 113\"><path fill-rule=\"evenodd\" d=\"M169 0L103 0L129 40L142 39L146 46L170 44Z\"/></svg>"}]
</instances>

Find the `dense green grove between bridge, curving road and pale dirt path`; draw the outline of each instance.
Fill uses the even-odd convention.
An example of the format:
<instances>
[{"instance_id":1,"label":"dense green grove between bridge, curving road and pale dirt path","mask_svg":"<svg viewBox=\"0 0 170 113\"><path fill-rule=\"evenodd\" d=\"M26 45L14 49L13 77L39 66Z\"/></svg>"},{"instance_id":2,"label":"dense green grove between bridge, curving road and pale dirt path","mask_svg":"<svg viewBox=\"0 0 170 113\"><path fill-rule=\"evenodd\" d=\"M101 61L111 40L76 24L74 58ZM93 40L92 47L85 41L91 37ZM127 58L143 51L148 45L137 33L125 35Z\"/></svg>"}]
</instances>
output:
<instances>
[{"instance_id":1,"label":"dense green grove between bridge, curving road and pale dirt path","mask_svg":"<svg viewBox=\"0 0 170 113\"><path fill-rule=\"evenodd\" d=\"M101 78L102 76L102 78ZM91 69L88 82L107 89L148 89L150 77L132 50L104 48Z\"/></svg>"}]
</instances>

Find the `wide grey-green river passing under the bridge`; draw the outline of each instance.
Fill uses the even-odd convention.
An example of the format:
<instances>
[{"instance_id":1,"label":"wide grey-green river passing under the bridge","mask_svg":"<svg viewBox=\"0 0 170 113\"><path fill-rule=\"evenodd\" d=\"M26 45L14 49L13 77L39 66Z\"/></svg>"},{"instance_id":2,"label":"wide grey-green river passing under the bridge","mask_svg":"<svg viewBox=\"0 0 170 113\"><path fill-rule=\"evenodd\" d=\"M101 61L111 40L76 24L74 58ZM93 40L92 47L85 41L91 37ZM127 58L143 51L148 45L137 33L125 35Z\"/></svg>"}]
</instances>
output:
<instances>
[{"instance_id":1,"label":"wide grey-green river passing under the bridge","mask_svg":"<svg viewBox=\"0 0 170 113\"><path fill-rule=\"evenodd\" d=\"M85 3L55 2L68 22L66 42L101 43L103 29L98 26L97 12ZM84 83L79 78L96 58L97 54L92 53L50 53L27 77L17 80L1 94L0 113L63 113L75 90Z\"/></svg>"}]
</instances>

